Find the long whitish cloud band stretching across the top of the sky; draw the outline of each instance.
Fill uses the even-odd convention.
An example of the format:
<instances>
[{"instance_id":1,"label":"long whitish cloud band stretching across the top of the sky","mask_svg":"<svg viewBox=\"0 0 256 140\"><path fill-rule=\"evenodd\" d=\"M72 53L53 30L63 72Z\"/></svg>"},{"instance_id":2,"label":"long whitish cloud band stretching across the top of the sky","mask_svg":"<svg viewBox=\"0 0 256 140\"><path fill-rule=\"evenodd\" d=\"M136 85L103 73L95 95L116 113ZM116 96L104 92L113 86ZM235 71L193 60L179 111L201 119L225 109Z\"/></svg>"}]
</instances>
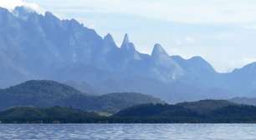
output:
<instances>
[{"instance_id":1,"label":"long whitish cloud band stretching across the top of the sky","mask_svg":"<svg viewBox=\"0 0 256 140\"><path fill-rule=\"evenodd\" d=\"M43 2L43 0L30 0ZM255 0L54 0L69 12L123 13L181 23L256 23ZM44 0L48 5L52 0ZM50 5L49 5L50 6Z\"/></svg>"}]
</instances>

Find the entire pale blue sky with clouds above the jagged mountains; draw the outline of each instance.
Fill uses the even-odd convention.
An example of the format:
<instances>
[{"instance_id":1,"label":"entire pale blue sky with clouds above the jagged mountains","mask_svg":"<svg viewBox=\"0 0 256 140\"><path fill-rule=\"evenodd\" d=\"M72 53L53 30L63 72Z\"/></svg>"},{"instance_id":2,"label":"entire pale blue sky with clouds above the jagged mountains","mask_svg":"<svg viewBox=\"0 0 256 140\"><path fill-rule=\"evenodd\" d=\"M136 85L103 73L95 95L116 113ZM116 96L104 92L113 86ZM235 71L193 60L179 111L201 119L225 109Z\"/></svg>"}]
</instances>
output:
<instances>
[{"instance_id":1,"label":"entire pale blue sky with clouds above the jagged mountains","mask_svg":"<svg viewBox=\"0 0 256 140\"><path fill-rule=\"evenodd\" d=\"M140 52L157 42L170 55L201 56L218 72L256 62L256 0L0 0L21 5L110 32L119 45L128 33Z\"/></svg>"}]
</instances>

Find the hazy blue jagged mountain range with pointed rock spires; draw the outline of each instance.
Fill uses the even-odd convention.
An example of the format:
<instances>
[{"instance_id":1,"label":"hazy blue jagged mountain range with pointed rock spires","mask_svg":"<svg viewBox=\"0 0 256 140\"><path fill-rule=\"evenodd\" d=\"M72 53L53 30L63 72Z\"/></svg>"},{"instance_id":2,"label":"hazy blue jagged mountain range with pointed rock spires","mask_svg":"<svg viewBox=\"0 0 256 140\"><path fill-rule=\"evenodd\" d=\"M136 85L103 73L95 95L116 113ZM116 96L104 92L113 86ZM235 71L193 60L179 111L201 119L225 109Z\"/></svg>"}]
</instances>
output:
<instances>
[{"instance_id":1,"label":"hazy blue jagged mountain range with pointed rock spires","mask_svg":"<svg viewBox=\"0 0 256 140\"><path fill-rule=\"evenodd\" d=\"M218 73L202 57L170 56L160 44L143 54L127 34L117 47L110 34L100 37L74 19L25 7L13 12L0 8L0 27L2 88L48 79L79 87L84 83L100 94L142 92L167 102L255 97L256 62Z\"/></svg>"}]
</instances>

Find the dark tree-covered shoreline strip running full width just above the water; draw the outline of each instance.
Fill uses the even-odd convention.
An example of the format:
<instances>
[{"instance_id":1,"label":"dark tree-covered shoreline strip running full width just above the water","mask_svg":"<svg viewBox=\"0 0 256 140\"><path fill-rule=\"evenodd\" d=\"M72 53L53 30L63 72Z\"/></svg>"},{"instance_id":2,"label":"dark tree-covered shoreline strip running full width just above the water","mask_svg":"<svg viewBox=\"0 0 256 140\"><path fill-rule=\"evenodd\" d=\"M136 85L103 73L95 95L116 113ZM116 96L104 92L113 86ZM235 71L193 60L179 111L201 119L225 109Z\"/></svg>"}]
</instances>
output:
<instances>
[{"instance_id":1,"label":"dark tree-covered shoreline strip running full width just above the water","mask_svg":"<svg viewBox=\"0 0 256 140\"><path fill-rule=\"evenodd\" d=\"M213 102L206 100L203 102ZM223 101L214 101L221 104ZM256 122L256 107L231 104L202 112L202 101L192 102L193 109L180 105L141 104L128 107L110 117L95 112L84 112L71 107L13 107L0 112L1 122L44 122L44 123L220 123ZM194 106L197 104L197 108ZM204 103L203 103L204 104ZM203 108L202 110L198 108Z\"/></svg>"}]
</instances>

